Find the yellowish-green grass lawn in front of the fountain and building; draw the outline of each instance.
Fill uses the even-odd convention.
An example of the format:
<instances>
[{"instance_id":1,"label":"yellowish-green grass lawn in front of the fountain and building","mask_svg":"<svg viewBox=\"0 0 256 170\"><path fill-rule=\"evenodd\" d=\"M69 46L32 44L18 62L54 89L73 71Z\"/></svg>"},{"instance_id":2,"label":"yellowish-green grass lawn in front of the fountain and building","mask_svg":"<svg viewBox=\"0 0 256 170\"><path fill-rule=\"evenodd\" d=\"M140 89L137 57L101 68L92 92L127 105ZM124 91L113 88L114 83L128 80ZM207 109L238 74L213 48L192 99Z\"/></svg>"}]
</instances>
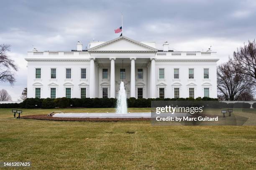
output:
<instances>
[{"instance_id":1,"label":"yellowish-green grass lawn in front of the fountain and building","mask_svg":"<svg viewBox=\"0 0 256 170\"><path fill-rule=\"evenodd\" d=\"M52 110L23 109L23 115ZM14 119L11 109L0 109L0 129L0 162L31 161L31 169L256 169L256 126L43 121Z\"/></svg>"}]
</instances>

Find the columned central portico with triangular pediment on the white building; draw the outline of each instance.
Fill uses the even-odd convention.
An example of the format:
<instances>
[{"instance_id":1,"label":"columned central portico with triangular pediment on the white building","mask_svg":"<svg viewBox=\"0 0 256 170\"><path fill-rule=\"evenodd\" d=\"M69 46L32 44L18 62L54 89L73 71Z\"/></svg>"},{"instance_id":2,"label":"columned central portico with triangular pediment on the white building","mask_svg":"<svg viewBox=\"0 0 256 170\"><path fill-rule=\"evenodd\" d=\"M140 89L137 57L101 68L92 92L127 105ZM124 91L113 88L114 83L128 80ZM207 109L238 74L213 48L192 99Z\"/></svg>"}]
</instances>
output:
<instances>
[{"instance_id":1,"label":"columned central portico with triangular pediment on the white building","mask_svg":"<svg viewBox=\"0 0 256 170\"><path fill-rule=\"evenodd\" d=\"M103 92L97 95L95 89L101 92L102 90L106 91L106 88L108 97L115 98L121 81L124 81L127 97L137 98L138 88L144 98L156 97L155 86L151 86L151 90L149 90L149 84L156 84L155 79L150 79L151 75L149 75L149 73L155 72L156 48L127 37L119 37L92 47L88 52L91 57L90 76L93 76L90 79L90 84L91 81L94 84L94 86L90 86L90 92L93 93L90 93L90 98L104 97L101 96ZM97 64L96 69L94 69L95 64ZM151 68L154 70L151 71ZM98 74L96 74L97 69L100 69ZM105 72L110 72L110 77L103 78L102 69ZM140 77L138 77L138 69ZM148 94L148 91L151 91L151 95Z\"/></svg>"}]
</instances>

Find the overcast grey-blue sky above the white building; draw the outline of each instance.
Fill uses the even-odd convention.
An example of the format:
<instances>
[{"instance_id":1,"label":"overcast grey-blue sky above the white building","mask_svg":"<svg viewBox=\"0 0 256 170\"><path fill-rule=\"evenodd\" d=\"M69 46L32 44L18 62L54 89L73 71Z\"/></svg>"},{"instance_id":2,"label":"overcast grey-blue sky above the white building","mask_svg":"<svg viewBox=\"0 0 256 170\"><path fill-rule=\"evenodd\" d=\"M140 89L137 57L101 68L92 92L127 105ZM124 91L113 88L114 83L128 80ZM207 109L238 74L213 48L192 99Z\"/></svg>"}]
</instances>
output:
<instances>
[{"instance_id":1,"label":"overcast grey-blue sky above the white building","mask_svg":"<svg viewBox=\"0 0 256 170\"><path fill-rule=\"evenodd\" d=\"M19 66L14 86L0 83L16 101L27 86L27 51L70 51L124 36L137 41L164 41L177 51L206 51L212 46L220 61L256 38L256 0L1 0L0 44Z\"/></svg>"}]
</instances>

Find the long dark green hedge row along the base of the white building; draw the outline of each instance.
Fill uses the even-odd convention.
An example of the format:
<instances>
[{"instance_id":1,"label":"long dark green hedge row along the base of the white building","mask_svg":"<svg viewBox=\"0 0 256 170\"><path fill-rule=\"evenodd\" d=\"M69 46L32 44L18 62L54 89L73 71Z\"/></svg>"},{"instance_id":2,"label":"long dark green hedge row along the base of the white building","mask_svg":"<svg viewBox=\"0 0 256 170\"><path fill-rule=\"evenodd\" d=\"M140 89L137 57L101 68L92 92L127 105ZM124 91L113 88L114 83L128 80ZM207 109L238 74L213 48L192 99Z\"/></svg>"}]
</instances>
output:
<instances>
[{"instance_id":1,"label":"long dark green hedge row along the base of the white building","mask_svg":"<svg viewBox=\"0 0 256 170\"><path fill-rule=\"evenodd\" d=\"M113 108L116 107L117 99L114 98L57 98L57 99L38 99L38 98L28 98L21 103L9 103L9 104L0 104L0 108L43 108L43 109L51 109L55 107L60 108L69 108L69 107L84 107L84 108ZM209 97L198 97L196 99L193 98L178 98L178 99L136 99L131 97L127 99L128 107L151 107L151 101L193 101L192 103L200 104L197 101L216 101L211 105L212 108L250 108L251 105L248 103L219 103L218 99L209 98ZM256 108L256 103L253 104L253 108Z\"/></svg>"}]
</instances>

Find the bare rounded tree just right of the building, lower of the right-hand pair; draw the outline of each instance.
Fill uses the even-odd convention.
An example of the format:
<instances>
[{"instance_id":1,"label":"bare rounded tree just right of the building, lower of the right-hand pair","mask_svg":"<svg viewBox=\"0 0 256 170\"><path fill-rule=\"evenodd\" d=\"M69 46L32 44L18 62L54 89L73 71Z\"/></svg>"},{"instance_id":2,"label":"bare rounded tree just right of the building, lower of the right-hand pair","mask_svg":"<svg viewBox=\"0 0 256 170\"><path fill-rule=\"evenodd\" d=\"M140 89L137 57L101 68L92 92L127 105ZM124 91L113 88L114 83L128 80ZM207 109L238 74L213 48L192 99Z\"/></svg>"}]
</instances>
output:
<instances>
[{"instance_id":1,"label":"bare rounded tree just right of the building, lower of the right-hand pair","mask_svg":"<svg viewBox=\"0 0 256 170\"><path fill-rule=\"evenodd\" d=\"M218 92L224 95L225 100L231 101L238 100L244 92L253 92L248 75L241 74L239 68L235 68L232 62L230 58L227 63L221 64L217 69Z\"/></svg>"}]
</instances>

